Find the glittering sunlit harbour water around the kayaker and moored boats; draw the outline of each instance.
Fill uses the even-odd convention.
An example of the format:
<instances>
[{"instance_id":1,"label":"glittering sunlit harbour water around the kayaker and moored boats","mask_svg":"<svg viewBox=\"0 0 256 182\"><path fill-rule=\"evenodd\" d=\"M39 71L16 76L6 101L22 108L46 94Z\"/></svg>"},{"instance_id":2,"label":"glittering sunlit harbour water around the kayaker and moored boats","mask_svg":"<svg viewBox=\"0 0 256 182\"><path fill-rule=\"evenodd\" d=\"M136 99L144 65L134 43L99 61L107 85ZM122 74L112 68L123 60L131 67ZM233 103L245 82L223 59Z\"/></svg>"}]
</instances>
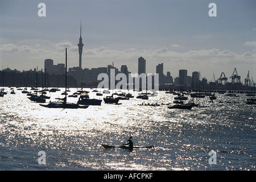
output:
<instances>
[{"instance_id":1,"label":"glittering sunlit harbour water around the kayaker and moored boats","mask_svg":"<svg viewBox=\"0 0 256 182\"><path fill-rule=\"evenodd\" d=\"M49 109L16 88L16 94L6 90L0 97L0 170L255 170L255 104L246 104L245 94L215 94L213 102L195 98L201 107L190 110L168 109L176 96L162 91L148 100L131 92L135 97L121 105ZM63 90L47 95L55 101ZM90 98L109 95L86 90ZM119 146L131 136L134 146L154 148L101 146Z\"/></svg>"}]
</instances>

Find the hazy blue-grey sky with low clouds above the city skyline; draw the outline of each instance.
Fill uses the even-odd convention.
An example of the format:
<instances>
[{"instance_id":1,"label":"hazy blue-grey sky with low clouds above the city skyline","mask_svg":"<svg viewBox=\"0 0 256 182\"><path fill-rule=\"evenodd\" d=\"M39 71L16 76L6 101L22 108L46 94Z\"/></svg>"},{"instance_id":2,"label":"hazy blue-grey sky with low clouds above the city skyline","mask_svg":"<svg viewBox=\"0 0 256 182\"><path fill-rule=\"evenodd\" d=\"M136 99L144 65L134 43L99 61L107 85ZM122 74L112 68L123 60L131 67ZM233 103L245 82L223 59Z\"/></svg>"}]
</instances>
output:
<instances>
[{"instance_id":1,"label":"hazy blue-grey sky with low clouds above the city skyline","mask_svg":"<svg viewBox=\"0 0 256 182\"><path fill-rule=\"evenodd\" d=\"M39 16L46 5L46 16ZM210 3L216 4L216 16ZM77 44L82 22L82 68L127 65L146 72L163 63L164 74L179 69L208 81L237 69L241 81L256 80L255 0L1 0L0 65L3 69L44 69L44 60L79 66ZM229 78L229 82L231 79Z\"/></svg>"}]
</instances>

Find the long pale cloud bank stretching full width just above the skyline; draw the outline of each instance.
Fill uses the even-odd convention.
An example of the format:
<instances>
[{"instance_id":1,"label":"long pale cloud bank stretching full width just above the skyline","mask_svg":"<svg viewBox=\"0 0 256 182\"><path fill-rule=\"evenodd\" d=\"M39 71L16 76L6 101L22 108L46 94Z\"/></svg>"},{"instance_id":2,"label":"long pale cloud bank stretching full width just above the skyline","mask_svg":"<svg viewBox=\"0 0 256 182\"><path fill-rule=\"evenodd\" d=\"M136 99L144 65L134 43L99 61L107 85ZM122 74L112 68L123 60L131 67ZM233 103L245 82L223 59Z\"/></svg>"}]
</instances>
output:
<instances>
[{"instance_id":1,"label":"long pale cloud bank stretching full width just above the skyline","mask_svg":"<svg viewBox=\"0 0 256 182\"><path fill-rule=\"evenodd\" d=\"M251 44L251 42L250 42ZM34 45L34 46L33 46ZM79 53L76 44L71 42L60 42L57 44L2 44L0 45L1 61L3 65L9 65L12 69L28 70L39 66L43 68L44 60L53 59L54 64L63 63L65 58L65 47L68 47L68 65L76 67L79 64ZM187 69L188 72L201 71L205 77L212 77L213 71L232 72L236 67L245 75L255 65L254 52L236 53L228 49L198 49L187 52L170 51L166 47L159 49L135 49L126 48L115 50L107 47L83 49L82 68L107 67L114 63L118 69L121 65L127 65L128 70L136 73L138 70L138 57L146 59L146 72L155 73L155 67L159 63L164 64L164 72L170 71L172 76L178 74L179 69ZM19 57L17 64L16 57ZM28 68L27 68L28 67ZM226 70L224 70L226 69ZM217 74L217 72L216 72Z\"/></svg>"}]
</instances>

